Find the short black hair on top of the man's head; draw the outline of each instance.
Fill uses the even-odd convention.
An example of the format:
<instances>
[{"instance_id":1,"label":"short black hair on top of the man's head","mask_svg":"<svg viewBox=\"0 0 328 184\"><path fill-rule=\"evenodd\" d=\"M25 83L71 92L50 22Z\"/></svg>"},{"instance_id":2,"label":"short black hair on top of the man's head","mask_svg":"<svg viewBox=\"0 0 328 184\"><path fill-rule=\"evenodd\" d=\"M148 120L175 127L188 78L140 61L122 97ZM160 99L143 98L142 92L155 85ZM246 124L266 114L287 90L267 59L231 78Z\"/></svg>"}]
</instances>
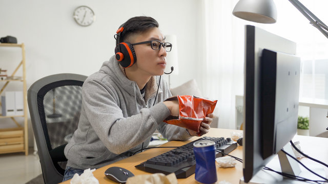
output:
<instances>
[{"instance_id":1,"label":"short black hair on top of the man's head","mask_svg":"<svg viewBox=\"0 0 328 184\"><path fill-rule=\"evenodd\" d=\"M158 26L158 22L152 17L132 17L124 23L124 30L120 34L119 41L127 41L126 39L132 34L144 33L151 28L158 28Z\"/></svg>"}]
</instances>

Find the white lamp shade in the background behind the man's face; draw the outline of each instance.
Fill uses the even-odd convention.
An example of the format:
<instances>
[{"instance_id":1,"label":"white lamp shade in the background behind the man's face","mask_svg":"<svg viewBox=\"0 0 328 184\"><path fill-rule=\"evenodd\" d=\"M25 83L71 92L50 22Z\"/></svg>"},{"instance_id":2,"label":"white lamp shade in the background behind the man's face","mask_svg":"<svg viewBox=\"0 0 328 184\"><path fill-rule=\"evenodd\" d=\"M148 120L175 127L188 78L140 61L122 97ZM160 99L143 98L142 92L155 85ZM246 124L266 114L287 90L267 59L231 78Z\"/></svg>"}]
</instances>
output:
<instances>
[{"instance_id":1,"label":"white lamp shade in the background behind the man's face","mask_svg":"<svg viewBox=\"0 0 328 184\"><path fill-rule=\"evenodd\" d=\"M174 67L172 74L179 74L179 65L178 65L178 44L176 35L165 35L165 42L172 44L172 50L167 53L166 56L166 72L171 72L171 66Z\"/></svg>"}]
</instances>

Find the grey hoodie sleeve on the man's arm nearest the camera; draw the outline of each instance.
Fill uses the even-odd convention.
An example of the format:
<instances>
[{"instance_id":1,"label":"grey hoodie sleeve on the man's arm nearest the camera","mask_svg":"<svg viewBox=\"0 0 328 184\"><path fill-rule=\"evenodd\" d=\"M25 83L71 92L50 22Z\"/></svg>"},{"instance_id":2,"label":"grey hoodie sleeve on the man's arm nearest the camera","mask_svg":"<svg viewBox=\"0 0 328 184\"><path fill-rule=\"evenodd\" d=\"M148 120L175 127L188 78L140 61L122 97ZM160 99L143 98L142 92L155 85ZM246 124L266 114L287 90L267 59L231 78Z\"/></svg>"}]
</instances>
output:
<instances>
[{"instance_id":1,"label":"grey hoodie sleeve on the man's arm nearest the camera","mask_svg":"<svg viewBox=\"0 0 328 184\"><path fill-rule=\"evenodd\" d=\"M126 108L122 104L133 104L129 104L129 99L135 100L134 97L120 96L99 80L88 80L83 86L83 105L88 121L101 142L115 154L126 152L144 142L170 115L170 110L160 102L125 117L121 108ZM120 103L122 100L125 103Z\"/></svg>"}]
</instances>

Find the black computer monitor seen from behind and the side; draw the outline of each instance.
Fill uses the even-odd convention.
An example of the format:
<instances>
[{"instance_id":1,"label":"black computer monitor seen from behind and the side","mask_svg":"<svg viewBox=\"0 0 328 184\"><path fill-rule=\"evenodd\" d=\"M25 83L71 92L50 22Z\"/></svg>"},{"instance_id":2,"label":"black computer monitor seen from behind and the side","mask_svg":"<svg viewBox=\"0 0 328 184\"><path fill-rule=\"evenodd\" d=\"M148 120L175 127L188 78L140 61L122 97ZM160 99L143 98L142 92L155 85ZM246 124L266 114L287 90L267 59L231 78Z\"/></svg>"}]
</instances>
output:
<instances>
[{"instance_id":1,"label":"black computer monitor seen from behind and the side","mask_svg":"<svg viewBox=\"0 0 328 184\"><path fill-rule=\"evenodd\" d=\"M299 80L296 43L245 26L244 182L249 182L296 134Z\"/></svg>"}]
</instances>

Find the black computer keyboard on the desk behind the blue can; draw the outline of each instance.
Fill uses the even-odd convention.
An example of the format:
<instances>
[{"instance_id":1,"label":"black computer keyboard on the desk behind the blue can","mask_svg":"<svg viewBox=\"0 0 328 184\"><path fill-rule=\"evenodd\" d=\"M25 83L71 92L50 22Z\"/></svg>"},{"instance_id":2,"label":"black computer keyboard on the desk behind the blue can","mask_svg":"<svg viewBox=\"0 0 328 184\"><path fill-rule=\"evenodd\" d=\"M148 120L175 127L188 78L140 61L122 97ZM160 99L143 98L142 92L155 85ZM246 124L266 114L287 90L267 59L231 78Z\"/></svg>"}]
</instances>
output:
<instances>
[{"instance_id":1,"label":"black computer keyboard on the desk behind the blue can","mask_svg":"<svg viewBox=\"0 0 328 184\"><path fill-rule=\"evenodd\" d=\"M210 140L215 142L216 153L215 157L224 156L222 153L229 154L237 148L237 143L230 138L224 137L201 137L198 140L175 148L166 153L157 155L148 159L146 162L135 166L137 169L149 173L175 173L177 178L187 178L195 173L196 160L194 156L193 145L196 141Z\"/></svg>"}]
</instances>

